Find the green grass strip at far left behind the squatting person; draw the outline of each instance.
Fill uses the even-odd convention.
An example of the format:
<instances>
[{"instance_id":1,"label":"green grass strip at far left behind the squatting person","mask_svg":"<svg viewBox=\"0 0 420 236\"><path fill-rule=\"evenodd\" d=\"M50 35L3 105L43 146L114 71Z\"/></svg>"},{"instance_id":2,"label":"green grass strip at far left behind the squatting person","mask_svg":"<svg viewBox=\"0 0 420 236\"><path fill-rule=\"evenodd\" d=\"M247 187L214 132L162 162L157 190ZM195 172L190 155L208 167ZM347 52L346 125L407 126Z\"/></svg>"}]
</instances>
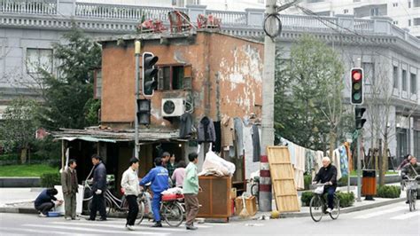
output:
<instances>
[{"instance_id":1,"label":"green grass strip at far left behind the squatting person","mask_svg":"<svg viewBox=\"0 0 420 236\"><path fill-rule=\"evenodd\" d=\"M58 168L49 165L9 165L0 168L0 177L41 177L43 174L57 173Z\"/></svg>"}]
</instances>

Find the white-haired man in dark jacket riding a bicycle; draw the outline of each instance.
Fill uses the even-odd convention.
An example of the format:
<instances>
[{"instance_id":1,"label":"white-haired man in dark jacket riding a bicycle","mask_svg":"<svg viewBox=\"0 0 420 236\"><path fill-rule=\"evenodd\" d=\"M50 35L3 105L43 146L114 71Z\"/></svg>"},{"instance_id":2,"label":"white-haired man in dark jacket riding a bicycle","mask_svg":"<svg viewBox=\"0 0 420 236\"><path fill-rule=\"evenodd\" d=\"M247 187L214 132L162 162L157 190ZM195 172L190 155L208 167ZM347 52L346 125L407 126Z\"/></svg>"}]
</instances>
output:
<instances>
[{"instance_id":1,"label":"white-haired man in dark jacket riding a bicycle","mask_svg":"<svg viewBox=\"0 0 420 236\"><path fill-rule=\"evenodd\" d=\"M336 192L337 188L337 168L331 165L331 160L328 157L323 158L323 167L319 169L318 174L316 174L312 184L315 185L318 182L325 184L323 193L327 193L327 212L331 213L334 206L334 193Z\"/></svg>"}]
</instances>

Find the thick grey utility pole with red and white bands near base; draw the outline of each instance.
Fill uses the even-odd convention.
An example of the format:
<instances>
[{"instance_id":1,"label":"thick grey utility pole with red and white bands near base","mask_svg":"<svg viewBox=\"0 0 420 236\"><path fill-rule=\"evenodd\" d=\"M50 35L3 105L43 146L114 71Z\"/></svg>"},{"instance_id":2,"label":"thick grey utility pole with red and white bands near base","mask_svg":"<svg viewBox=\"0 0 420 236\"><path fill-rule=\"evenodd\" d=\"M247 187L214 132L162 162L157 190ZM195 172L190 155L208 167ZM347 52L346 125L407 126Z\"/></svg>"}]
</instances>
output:
<instances>
[{"instance_id":1,"label":"thick grey utility pole with red and white bands near base","mask_svg":"<svg viewBox=\"0 0 420 236\"><path fill-rule=\"evenodd\" d=\"M276 13L276 0L267 0L266 15ZM268 31L276 30L276 24L269 24ZM269 173L267 146L274 145L274 73L276 59L275 38L264 37L264 77L262 80L261 120L261 166L260 199L261 211L271 211L271 176Z\"/></svg>"}]
</instances>

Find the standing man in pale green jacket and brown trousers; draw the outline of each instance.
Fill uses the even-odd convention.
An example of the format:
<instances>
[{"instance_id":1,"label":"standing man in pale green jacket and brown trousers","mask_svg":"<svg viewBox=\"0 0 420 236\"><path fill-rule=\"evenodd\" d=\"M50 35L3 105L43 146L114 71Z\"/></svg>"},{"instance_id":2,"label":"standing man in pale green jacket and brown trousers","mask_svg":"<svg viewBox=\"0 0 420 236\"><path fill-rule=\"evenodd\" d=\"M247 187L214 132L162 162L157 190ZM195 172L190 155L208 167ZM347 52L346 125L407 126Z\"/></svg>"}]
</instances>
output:
<instances>
[{"instance_id":1,"label":"standing man in pale green jacket and brown trousers","mask_svg":"<svg viewBox=\"0 0 420 236\"><path fill-rule=\"evenodd\" d=\"M185 178L183 179L183 195L185 199L185 215L187 216L186 228L187 230L197 230L194 226L194 219L198 214L198 191L201 192L201 187L198 185L197 163L198 154L188 154L190 163L185 169Z\"/></svg>"}]
</instances>

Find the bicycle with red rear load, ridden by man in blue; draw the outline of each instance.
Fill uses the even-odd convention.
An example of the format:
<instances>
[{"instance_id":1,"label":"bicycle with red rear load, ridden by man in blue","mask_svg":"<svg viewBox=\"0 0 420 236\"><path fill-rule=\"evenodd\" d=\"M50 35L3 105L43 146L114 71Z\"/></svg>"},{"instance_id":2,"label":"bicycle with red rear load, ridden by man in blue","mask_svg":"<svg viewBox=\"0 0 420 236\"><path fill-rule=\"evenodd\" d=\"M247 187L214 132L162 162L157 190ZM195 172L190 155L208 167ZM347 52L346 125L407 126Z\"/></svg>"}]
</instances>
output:
<instances>
[{"instance_id":1,"label":"bicycle with red rear load, ridden by man in blue","mask_svg":"<svg viewBox=\"0 0 420 236\"><path fill-rule=\"evenodd\" d=\"M146 196L145 190L143 190L139 195L140 202L138 204L137 224L141 224L144 219L144 206L147 204L147 198L148 196ZM184 210L180 203L181 201L183 201L183 194L174 194L172 198L160 201L160 216L171 227L178 227L183 224ZM152 209L149 210L152 213Z\"/></svg>"}]
</instances>

